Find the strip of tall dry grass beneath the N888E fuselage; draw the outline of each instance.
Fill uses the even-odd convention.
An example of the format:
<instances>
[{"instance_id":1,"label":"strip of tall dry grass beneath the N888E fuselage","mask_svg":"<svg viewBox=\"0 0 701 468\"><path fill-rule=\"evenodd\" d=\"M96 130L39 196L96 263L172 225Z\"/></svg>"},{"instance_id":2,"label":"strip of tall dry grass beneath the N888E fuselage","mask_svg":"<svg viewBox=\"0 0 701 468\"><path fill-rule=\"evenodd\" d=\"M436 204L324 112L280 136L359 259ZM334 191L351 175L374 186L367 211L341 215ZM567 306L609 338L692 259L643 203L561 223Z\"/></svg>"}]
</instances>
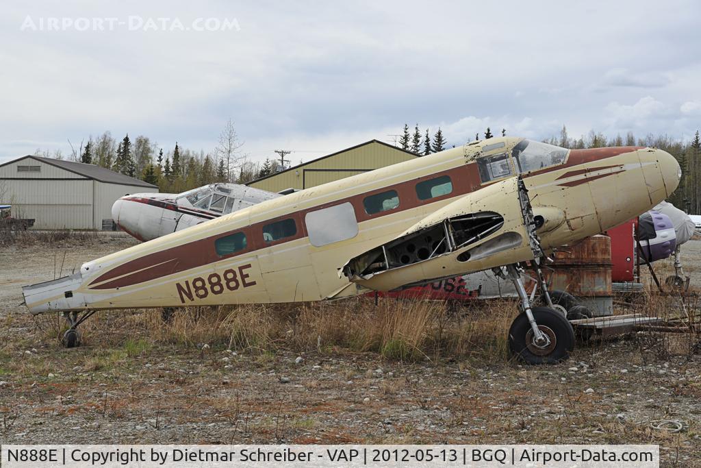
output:
<instances>
[{"instance_id":1,"label":"strip of tall dry grass beneath the N888E fuselage","mask_svg":"<svg viewBox=\"0 0 701 468\"><path fill-rule=\"evenodd\" d=\"M175 309L164 321L161 309L100 312L81 325L86 345L151 345L228 348L263 354L278 349L376 353L396 361L440 357L507 359L506 336L515 316L509 301L486 307L440 301L368 297L303 305L245 305ZM59 339L64 321L36 317L45 339ZM90 364L93 366L93 364Z\"/></svg>"}]
</instances>

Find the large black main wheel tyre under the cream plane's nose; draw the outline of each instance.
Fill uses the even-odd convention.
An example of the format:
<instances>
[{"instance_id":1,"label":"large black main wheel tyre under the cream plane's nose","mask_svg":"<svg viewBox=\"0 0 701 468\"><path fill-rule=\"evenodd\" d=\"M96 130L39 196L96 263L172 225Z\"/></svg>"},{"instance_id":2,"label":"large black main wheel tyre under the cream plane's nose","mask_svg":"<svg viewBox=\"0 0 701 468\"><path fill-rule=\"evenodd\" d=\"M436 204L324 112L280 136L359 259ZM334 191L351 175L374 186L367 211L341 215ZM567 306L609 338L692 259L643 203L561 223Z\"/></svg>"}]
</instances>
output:
<instances>
[{"instance_id":1,"label":"large black main wheel tyre under the cream plane's nose","mask_svg":"<svg viewBox=\"0 0 701 468\"><path fill-rule=\"evenodd\" d=\"M526 364L554 364L569 359L574 349L574 330L569 321L549 307L533 307L531 312L547 342L536 344L528 316L519 314L509 329L511 355Z\"/></svg>"}]
</instances>

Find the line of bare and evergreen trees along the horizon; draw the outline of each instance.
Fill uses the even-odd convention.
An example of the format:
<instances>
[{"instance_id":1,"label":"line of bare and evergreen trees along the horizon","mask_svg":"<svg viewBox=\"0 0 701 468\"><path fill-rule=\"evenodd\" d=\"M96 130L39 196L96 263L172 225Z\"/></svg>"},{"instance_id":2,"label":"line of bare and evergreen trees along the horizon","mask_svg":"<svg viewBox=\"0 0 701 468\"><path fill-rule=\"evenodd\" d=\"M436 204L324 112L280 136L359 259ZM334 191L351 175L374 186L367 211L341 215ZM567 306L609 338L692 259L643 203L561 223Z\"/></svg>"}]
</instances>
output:
<instances>
[{"instance_id":1,"label":"line of bare and evergreen trees along the horizon","mask_svg":"<svg viewBox=\"0 0 701 468\"><path fill-rule=\"evenodd\" d=\"M506 135L502 128L501 135ZM491 128L482 133L484 139L492 138ZM419 156L428 156L447 149L449 146L446 135L439 127L433 135L428 128L421 131L418 123L414 131L404 124L402 133L398 135L397 147L413 152ZM480 134L475 135L475 140ZM696 131L690 141L675 139L668 135L653 135L636 137L628 132L625 137L615 135L609 138L603 133L590 131L587 135L574 138L569 135L566 126L558 135L546 138L543 142L571 149L586 149L612 146L656 147L672 154L679 161L682 178L679 188L669 198L679 208L688 209L689 213L701 214L701 138ZM461 145L463 142L460 143ZM212 152L194 151L181 147L177 142L175 147L164 149L147 136L139 135L133 141L129 135L121 140L114 138L109 131L93 138L78 148L72 147L68 159L83 163L96 164L113 171L139 178L158 185L161 192L179 193L189 189L214 182L234 182L244 184L259 177L270 175L278 170L278 161L266 159L257 163L251 161L241 151L243 142L238 137L233 122L226 123L219 134L219 141ZM452 145L453 147L455 145ZM64 159L60 151L50 153L37 149L37 156Z\"/></svg>"}]
</instances>

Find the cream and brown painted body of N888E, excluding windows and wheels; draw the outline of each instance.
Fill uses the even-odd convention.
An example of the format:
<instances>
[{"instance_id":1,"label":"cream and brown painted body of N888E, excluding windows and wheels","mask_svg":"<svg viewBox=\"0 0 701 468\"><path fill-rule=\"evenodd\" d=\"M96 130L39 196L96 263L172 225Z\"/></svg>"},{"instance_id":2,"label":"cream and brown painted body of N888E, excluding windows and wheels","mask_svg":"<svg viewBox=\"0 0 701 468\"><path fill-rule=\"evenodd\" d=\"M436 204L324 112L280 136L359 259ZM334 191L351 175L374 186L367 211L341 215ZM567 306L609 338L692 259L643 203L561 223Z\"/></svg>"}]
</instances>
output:
<instances>
[{"instance_id":1,"label":"cream and brown painted body of N888E, excluding windows and wheels","mask_svg":"<svg viewBox=\"0 0 701 468\"><path fill-rule=\"evenodd\" d=\"M62 283L55 280L29 286L25 288L27 307L33 313L40 313L49 310L297 302L367 292L368 289L360 284L362 281L353 282L340 273L349 259L392 241L421 220L430 219L433 213L460 206L461 199L465 199L468 208L478 209L482 204L479 209L503 213L504 228L483 241L504 230L526 233L519 218L521 212L516 211L517 168L514 161L509 158L510 175L486 183L479 180L475 163L476 159L490 154L510 154L519 141L519 138L494 138L264 201L182 232L87 262L77 276L67 277ZM491 152L483 151L484 147L494 147L494 142L504 142L505 145ZM569 152L562 166L522 174L533 213L545 213L546 216L552 213L553 219L562 215L562 219L554 220L544 232L538 232L545 250L625 222L655 206L676 188L679 166L669 154L649 148L621 149L620 152L606 150L608 152L602 149L600 156L595 154L597 150L579 150L582 153L576 153L578 161L574 161L573 152ZM425 203L402 199L402 193L408 193L407 184L426 180L437 173L451 175L452 194ZM321 247L311 244L306 235L304 213L339 203L353 203L360 213L364 196L393 187L404 187L397 189L400 205L396 209L376 216L361 213L358 234L351 239ZM259 234L254 227L292 213L297 213L297 229L301 230L296 239L282 239L268 245L264 239L256 238ZM213 250L207 250L214 249L214 239L244 229L249 229L250 239L249 248L242 253L213 258ZM526 237L519 246L474 262L456 262L450 255L445 255L397 269L396 273L385 272L376 276L377 286L373 287L393 288L399 284L530 260L533 255ZM197 255L204 259L199 262L201 265L197 265ZM194 266L182 269L186 264ZM165 273L159 276L158 271ZM70 294L67 294L67 289Z\"/></svg>"}]
</instances>

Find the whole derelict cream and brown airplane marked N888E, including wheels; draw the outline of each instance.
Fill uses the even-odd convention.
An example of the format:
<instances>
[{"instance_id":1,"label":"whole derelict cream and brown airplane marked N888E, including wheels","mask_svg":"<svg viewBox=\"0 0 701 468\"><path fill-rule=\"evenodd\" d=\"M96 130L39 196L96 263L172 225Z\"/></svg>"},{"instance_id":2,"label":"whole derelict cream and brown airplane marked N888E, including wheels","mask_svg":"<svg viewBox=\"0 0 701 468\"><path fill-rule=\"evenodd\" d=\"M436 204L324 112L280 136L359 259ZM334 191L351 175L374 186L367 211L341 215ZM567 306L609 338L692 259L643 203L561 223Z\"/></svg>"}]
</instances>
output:
<instances>
[{"instance_id":1,"label":"whole derelict cream and brown airplane marked N888E, including wheels","mask_svg":"<svg viewBox=\"0 0 701 468\"><path fill-rule=\"evenodd\" d=\"M519 295L510 353L556 363L575 337L541 259L644 213L680 177L660 149L491 138L257 203L22 293L32 314L64 314L71 347L100 309L335 300L491 269ZM531 307L524 262L545 307Z\"/></svg>"}]
</instances>

